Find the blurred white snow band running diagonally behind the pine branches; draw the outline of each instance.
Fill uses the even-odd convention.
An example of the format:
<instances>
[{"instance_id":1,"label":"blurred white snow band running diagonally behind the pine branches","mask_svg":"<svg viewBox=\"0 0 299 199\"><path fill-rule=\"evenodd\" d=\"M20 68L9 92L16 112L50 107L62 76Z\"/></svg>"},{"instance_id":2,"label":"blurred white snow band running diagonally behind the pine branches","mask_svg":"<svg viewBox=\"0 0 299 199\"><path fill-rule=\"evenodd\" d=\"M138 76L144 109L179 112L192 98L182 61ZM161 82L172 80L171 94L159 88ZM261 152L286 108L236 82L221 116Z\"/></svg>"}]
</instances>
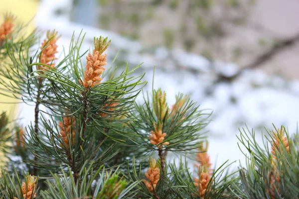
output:
<instances>
[{"instance_id":1,"label":"blurred white snow band running diagonally behind the pine branches","mask_svg":"<svg viewBox=\"0 0 299 199\"><path fill-rule=\"evenodd\" d=\"M188 54L181 50L168 51L160 47L153 54L139 53L142 44L129 41L116 33L88 27L70 22L68 15L56 16L54 10L65 8L71 0L43 0L36 16L36 24L41 29L56 29L62 34L58 45L69 45L73 31L78 35L81 29L86 32L83 49L92 48L94 36L104 35L112 39L112 47L108 54L116 54L118 50L125 53L120 59L128 61L131 66L144 62L142 68L146 71L145 80L149 81L147 90L151 90L153 66L157 65L154 78L154 88L162 88L167 93L168 104L173 104L175 95L179 92L188 94L201 108L213 110L213 117L207 126L209 130L209 154L212 162L220 165L224 161L240 160L245 165L245 157L237 145L238 128L254 127L259 132L263 126L271 129L272 123L282 124L295 132L299 112L299 82L287 83L282 78L268 76L258 71L246 71L241 78L232 84L218 84L211 95L206 94L206 88L212 83L212 77L207 73L193 74L178 71L173 67L179 64L201 72L209 72L210 63L205 58ZM62 48L60 48L62 50ZM176 56L178 55L178 56ZM111 63L111 61L110 61ZM162 63L162 64L161 64ZM218 72L225 76L237 73L237 67L232 63L217 62ZM142 95L138 101L142 100ZM22 105L23 123L33 120L32 106ZM265 131L265 130L264 130ZM260 136L258 133L257 136ZM261 140L261 139L258 139Z\"/></svg>"}]
</instances>

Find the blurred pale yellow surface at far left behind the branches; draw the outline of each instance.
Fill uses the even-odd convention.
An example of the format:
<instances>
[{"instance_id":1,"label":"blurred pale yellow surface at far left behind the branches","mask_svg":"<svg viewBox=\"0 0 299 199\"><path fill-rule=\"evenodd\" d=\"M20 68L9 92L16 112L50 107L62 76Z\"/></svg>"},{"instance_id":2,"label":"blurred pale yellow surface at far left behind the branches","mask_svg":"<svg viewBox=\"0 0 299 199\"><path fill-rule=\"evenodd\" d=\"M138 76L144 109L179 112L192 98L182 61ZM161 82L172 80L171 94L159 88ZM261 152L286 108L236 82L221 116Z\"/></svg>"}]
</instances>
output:
<instances>
[{"instance_id":1,"label":"blurred pale yellow surface at far left behind the branches","mask_svg":"<svg viewBox=\"0 0 299 199\"><path fill-rule=\"evenodd\" d=\"M5 13L12 13L15 17L15 23L27 24L26 33L31 32L35 26L33 17L36 13L39 0L0 0L0 23L3 22L3 15ZM0 85L2 88L2 85ZM17 102L15 99L0 96L0 112L6 111L10 118L13 118L16 111L15 103L2 103L2 102ZM0 159L2 159L0 154Z\"/></svg>"}]
</instances>

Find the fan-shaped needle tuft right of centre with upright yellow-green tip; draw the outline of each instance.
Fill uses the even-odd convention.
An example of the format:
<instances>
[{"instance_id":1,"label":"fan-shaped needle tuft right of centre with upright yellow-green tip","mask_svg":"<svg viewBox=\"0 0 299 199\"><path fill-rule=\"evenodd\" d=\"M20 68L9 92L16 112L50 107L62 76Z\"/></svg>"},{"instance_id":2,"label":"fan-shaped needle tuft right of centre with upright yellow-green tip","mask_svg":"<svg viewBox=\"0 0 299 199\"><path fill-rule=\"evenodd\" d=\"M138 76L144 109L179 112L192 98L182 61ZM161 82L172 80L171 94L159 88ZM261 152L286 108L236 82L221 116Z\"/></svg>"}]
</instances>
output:
<instances>
[{"instance_id":1,"label":"fan-shaped needle tuft right of centre with upright yellow-green tip","mask_svg":"<svg viewBox=\"0 0 299 199\"><path fill-rule=\"evenodd\" d=\"M137 112L133 113L137 119L132 124L132 129L145 140L141 147L156 150L157 146L169 142L169 145L164 146L167 151L197 150L199 143L205 138L199 131L207 124L209 114L199 110L195 102L182 94L176 96L176 102L169 108L165 101L166 94L162 94L160 89L153 90L152 93L152 96L149 93L145 96L144 104L136 104ZM149 142L149 132L155 129L167 132L163 142L157 146Z\"/></svg>"}]
</instances>

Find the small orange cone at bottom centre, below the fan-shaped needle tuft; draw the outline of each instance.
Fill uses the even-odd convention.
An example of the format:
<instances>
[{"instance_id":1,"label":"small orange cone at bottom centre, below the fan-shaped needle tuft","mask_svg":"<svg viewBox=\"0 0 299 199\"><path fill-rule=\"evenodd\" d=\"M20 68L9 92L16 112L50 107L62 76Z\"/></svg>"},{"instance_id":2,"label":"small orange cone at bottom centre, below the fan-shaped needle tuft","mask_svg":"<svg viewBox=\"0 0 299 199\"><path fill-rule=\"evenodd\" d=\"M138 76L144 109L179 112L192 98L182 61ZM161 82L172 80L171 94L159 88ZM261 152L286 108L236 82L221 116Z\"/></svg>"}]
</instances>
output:
<instances>
[{"instance_id":1,"label":"small orange cone at bottom centre, below the fan-shaped needle tuft","mask_svg":"<svg viewBox=\"0 0 299 199\"><path fill-rule=\"evenodd\" d=\"M149 169L145 176L149 181L143 180L143 182L146 184L149 192L153 193L160 179L160 169L155 159L149 159Z\"/></svg>"}]
</instances>

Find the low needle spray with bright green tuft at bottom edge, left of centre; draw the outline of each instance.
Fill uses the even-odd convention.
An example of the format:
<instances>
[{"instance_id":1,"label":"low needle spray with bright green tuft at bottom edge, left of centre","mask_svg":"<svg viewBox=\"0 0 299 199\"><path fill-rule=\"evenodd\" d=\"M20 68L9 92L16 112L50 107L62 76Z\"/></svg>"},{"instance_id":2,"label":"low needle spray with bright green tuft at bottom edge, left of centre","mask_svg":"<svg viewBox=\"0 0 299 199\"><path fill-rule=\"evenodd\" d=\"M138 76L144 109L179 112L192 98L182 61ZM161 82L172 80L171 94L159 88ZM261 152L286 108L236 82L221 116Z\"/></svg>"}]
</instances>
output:
<instances>
[{"instance_id":1,"label":"low needle spray with bright green tuft at bottom edge, left of centre","mask_svg":"<svg viewBox=\"0 0 299 199\"><path fill-rule=\"evenodd\" d=\"M79 176L80 184L76 184L72 177L71 169L65 173L61 170L62 175L53 174L53 180L47 180L47 191L42 191L41 196L44 199L131 199L134 194L129 192L138 184L135 182L127 186L125 180L120 179L120 173L115 171L106 171L102 166L98 170L89 167L83 167Z\"/></svg>"}]
</instances>

